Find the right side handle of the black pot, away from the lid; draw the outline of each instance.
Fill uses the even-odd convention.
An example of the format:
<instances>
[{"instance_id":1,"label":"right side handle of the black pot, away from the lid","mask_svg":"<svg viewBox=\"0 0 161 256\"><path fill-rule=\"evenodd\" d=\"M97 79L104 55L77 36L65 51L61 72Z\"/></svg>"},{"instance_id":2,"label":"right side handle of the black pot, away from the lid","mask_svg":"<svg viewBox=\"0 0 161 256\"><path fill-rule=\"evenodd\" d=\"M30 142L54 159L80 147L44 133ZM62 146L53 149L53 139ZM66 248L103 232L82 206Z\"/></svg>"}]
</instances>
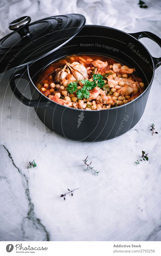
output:
<instances>
[{"instance_id":1,"label":"right side handle of the black pot, away from the lid","mask_svg":"<svg viewBox=\"0 0 161 256\"><path fill-rule=\"evenodd\" d=\"M137 32L137 33L129 33L129 35L134 36L137 40L139 40L142 37L150 38L151 40L156 42L161 48L161 39L160 39L160 37L156 36L155 34L153 34L151 32L142 31L142 32ZM153 56L151 56L151 57L153 58L155 69L158 68L161 65L161 58L155 58Z\"/></svg>"}]
</instances>

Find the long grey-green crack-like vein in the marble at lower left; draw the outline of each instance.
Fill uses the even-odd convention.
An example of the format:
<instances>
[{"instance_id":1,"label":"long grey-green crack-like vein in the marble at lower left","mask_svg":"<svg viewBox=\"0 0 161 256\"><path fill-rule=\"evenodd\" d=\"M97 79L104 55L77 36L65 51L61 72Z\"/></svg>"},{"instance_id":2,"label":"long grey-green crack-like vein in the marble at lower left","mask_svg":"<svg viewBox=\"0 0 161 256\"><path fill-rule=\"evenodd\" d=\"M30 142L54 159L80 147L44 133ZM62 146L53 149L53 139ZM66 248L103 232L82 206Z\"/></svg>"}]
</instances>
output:
<instances>
[{"instance_id":1,"label":"long grey-green crack-like vein in the marble at lower left","mask_svg":"<svg viewBox=\"0 0 161 256\"><path fill-rule=\"evenodd\" d=\"M11 159L12 161L12 164L14 165L14 167L18 170L18 172L20 173L21 177L24 177L23 180L23 185L24 185L24 188L25 188L25 195L29 201L29 211L27 213L27 217L24 217L24 219L28 219L30 221L33 221L33 225L35 226L36 229L38 229L39 225L41 226L41 228L43 228L44 230L44 233L46 234L46 241L50 241L50 236L49 236L49 232L47 232L46 230L46 227L41 223L41 220L39 218L36 217L36 214L34 212L34 204L30 198L30 191L29 191L29 184L28 184L28 180L27 180L27 177L25 174L22 173L22 171L15 165L14 163L14 160L12 159L12 156L11 156L11 153L9 152L9 150L5 147L5 145L2 145L5 150L7 151L8 153L8 156L9 158ZM24 220L23 220L23 223L24 223ZM38 226L38 227L37 227ZM22 230L23 230L23 235L25 235L25 232L24 232L24 229L22 227ZM43 232L42 232L43 233Z\"/></svg>"}]
</instances>

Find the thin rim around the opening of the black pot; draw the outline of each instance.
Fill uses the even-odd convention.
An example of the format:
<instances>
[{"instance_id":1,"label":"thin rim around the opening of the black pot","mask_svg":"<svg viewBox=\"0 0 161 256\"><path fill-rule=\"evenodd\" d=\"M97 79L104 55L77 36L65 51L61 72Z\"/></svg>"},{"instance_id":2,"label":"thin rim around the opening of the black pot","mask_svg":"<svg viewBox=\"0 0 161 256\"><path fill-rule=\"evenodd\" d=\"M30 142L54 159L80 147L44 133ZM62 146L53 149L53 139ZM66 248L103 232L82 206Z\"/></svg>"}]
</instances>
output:
<instances>
[{"instance_id":1,"label":"thin rim around the opening of the black pot","mask_svg":"<svg viewBox=\"0 0 161 256\"><path fill-rule=\"evenodd\" d=\"M108 28L108 29L116 30L116 31L122 32L122 33L124 33L124 34L126 34L126 35L128 35L128 36L131 36L134 40L137 40L137 42L139 42L142 46L144 46L143 43L141 43L138 39L136 39L136 38L135 38L134 36L132 36L131 34L126 33L126 32L124 32L124 31L122 31L122 30L116 29L116 28L107 27L107 26L101 26L101 25L84 25L84 27L103 27L103 28ZM148 49L147 49L145 46L144 46L144 48L145 48L146 51L148 52L148 54L149 54L149 56L150 56L150 59L151 59L151 61L152 61L152 64L153 64L153 75L152 75L152 78L151 78L150 83L148 84L148 86L147 86L147 88L144 90L144 92L141 93L141 94L140 94L137 98L135 98L134 100L132 100L132 101L130 101L130 102L124 104L124 105L117 106L117 107L112 107L112 108L110 108L110 109L101 109L101 110L74 109L74 108L71 108L71 107L64 106L64 105L62 105L62 104L56 103L55 101L50 100L47 96L45 96L43 93L41 93L41 92L37 89L36 85L33 83L32 79L31 79L31 77L30 77L30 73L29 73L29 68L30 68L29 65L30 65L30 64L27 64L27 73L28 73L28 76L29 76L29 78L30 78L30 81L32 82L32 84L33 84L33 86L35 87L35 89L36 89L39 93L41 93L41 95L44 96L47 100L49 100L49 101L52 102L52 103L55 103L56 105L59 105L59 106L65 107L65 108L69 108L69 109L73 109L73 110L89 111L89 112L90 112L90 111L92 111L92 112L93 112L93 111L95 111L95 112L98 112L98 111L101 111L101 112L103 111L103 112L105 112L105 111L110 111L110 110L114 110L114 109L125 108L125 107L128 106L129 104L133 103L134 101L137 101L140 97L142 97L142 96L147 92L147 90L150 89L150 85L151 85L152 82L153 82L154 73L155 73L153 57L152 57L152 55L150 54L150 52L148 51ZM59 49L61 49L61 48L59 48ZM42 59L43 59L43 58L42 58ZM58 58L58 59L59 59L59 58ZM57 60L58 60L58 59L57 59ZM36 60L36 61L39 61L39 60ZM35 61L35 62L36 62L36 61ZM56 60L55 60L55 61L56 61ZM53 61L53 62L54 62L54 61Z\"/></svg>"}]
</instances>

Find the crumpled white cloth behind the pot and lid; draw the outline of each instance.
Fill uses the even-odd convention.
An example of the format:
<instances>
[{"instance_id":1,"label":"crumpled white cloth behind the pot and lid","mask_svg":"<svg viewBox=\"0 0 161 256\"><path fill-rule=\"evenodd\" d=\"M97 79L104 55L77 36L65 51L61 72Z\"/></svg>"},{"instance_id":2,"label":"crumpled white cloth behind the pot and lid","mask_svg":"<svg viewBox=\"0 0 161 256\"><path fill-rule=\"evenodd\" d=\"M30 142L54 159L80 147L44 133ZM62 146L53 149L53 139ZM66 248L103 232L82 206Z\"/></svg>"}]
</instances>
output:
<instances>
[{"instance_id":1,"label":"crumpled white cloth behind the pot and lid","mask_svg":"<svg viewBox=\"0 0 161 256\"><path fill-rule=\"evenodd\" d=\"M148 6L146 9L140 8L138 2L139 0L1 0L0 38L10 32L8 26L11 21L25 15L35 21L52 15L79 13L86 17L86 24L104 25L126 32L133 30L138 21L160 21L160 0L154 0L153 3L144 1Z\"/></svg>"}]
</instances>

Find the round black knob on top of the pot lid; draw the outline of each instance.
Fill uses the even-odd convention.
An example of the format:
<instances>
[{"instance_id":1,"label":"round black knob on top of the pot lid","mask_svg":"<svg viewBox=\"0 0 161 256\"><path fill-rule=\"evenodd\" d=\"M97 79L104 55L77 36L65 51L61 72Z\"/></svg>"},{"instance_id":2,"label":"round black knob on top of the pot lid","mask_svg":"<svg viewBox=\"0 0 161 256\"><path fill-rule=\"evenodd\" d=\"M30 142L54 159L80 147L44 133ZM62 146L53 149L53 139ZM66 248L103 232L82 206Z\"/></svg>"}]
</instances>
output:
<instances>
[{"instance_id":1,"label":"round black knob on top of the pot lid","mask_svg":"<svg viewBox=\"0 0 161 256\"><path fill-rule=\"evenodd\" d=\"M20 34L21 37L29 34L29 23L31 18L29 16L23 16L10 23L9 29L14 30Z\"/></svg>"}]
</instances>

